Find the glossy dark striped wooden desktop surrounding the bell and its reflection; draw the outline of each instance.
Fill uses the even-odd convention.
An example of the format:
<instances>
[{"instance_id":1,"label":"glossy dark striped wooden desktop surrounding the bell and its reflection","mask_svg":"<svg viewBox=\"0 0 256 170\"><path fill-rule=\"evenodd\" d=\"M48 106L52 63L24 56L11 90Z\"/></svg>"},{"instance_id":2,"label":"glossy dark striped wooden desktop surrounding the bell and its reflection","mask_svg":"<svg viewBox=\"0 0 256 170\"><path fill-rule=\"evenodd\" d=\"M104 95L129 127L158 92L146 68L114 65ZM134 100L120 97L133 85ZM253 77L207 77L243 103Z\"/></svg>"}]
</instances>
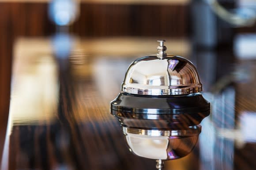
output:
<instances>
[{"instance_id":1,"label":"glossy dark striped wooden desktop surrounding the bell and its reflection","mask_svg":"<svg viewBox=\"0 0 256 170\"><path fill-rule=\"evenodd\" d=\"M154 160L128 150L109 113L128 65L155 53L154 38L146 45L138 38L73 39L69 55L61 40L60 46L45 38L15 43L2 169L154 170ZM193 152L166 162L165 169L255 169L255 62L231 63L224 58L230 53L203 52L200 58L190 54L187 40L167 42L168 51L195 62L212 108Z\"/></svg>"}]
</instances>

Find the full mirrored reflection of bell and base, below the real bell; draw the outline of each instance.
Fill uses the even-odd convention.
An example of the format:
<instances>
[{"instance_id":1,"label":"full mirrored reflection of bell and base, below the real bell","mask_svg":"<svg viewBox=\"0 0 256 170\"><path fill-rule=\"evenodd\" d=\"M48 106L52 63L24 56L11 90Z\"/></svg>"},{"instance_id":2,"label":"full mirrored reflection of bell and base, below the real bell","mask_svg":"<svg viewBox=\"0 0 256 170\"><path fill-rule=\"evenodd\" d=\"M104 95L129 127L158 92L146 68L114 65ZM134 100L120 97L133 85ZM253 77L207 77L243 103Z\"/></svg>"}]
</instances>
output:
<instances>
[{"instance_id":1,"label":"full mirrored reflection of bell and base, below the real bell","mask_svg":"<svg viewBox=\"0 0 256 170\"><path fill-rule=\"evenodd\" d=\"M197 113L189 114L187 110L187 113L176 115L154 115L127 113L111 108L111 114L120 122L128 149L136 156L156 159L156 167L161 170L163 160L183 158L192 152L201 133L199 124L210 114L210 109L204 113L198 110Z\"/></svg>"}]
</instances>

